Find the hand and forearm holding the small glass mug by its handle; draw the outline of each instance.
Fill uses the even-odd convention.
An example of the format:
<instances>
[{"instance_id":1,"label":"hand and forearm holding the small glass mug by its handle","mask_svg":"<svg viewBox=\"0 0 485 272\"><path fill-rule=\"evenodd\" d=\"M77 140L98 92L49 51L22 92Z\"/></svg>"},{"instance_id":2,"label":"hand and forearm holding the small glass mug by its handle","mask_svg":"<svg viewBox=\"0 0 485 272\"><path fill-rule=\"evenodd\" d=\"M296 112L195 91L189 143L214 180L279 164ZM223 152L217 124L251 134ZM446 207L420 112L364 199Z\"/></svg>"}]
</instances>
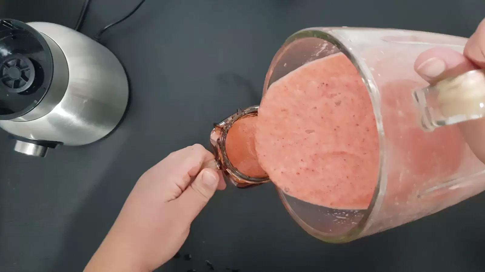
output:
<instances>
[{"instance_id":1,"label":"hand and forearm holding the small glass mug by its handle","mask_svg":"<svg viewBox=\"0 0 485 272\"><path fill-rule=\"evenodd\" d=\"M213 154L197 144L171 153L146 171L84 272L147 272L172 258L195 216L216 189L226 188L220 172L201 170L212 159Z\"/></svg>"}]
</instances>

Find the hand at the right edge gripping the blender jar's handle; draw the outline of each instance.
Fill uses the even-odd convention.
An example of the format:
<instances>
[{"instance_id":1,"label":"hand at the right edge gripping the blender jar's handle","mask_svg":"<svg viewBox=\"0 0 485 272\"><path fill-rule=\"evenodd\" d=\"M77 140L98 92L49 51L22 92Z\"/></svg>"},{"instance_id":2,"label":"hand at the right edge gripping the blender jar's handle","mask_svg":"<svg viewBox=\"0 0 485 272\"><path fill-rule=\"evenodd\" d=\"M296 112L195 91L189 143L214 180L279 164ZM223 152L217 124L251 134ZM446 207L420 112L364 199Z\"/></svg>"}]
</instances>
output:
<instances>
[{"instance_id":1,"label":"hand at the right edge gripping the blender jar's handle","mask_svg":"<svg viewBox=\"0 0 485 272\"><path fill-rule=\"evenodd\" d=\"M414 68L430 84L471 70L485 69L485 19L468 40L463 55L448 48L433 48L418 56ZM470 149L485 163L485 119L457 125Z\"/></svg>"}]
</instances>

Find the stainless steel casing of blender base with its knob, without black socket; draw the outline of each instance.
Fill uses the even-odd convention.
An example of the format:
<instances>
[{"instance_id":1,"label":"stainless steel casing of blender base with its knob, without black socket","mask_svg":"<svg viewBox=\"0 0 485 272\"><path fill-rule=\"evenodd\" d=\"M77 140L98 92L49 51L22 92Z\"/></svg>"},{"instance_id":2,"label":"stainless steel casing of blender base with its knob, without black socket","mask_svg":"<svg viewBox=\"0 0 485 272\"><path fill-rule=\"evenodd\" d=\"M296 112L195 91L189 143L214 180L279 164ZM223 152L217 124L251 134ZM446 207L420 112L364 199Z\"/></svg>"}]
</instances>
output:
<instances>
[{"instance_id":1,"label":"stainless steel casing of blender base with its knob, without black socket","mask_svg":"<svg viewBox=\"0 0 485 272\"><path fill-rule=\"evenodd\" d=\"M64 26L33 22L25 28L38 31L38 39L48 45L53 71L49 89L34 100L37 105L32 110L15 118L0 118L0 127L17 140L15 150L45 156L51 147L46 142L81 146L111 133L124 115L129 96L126 73L114 54Z\"/></svg>"}]
</instances>

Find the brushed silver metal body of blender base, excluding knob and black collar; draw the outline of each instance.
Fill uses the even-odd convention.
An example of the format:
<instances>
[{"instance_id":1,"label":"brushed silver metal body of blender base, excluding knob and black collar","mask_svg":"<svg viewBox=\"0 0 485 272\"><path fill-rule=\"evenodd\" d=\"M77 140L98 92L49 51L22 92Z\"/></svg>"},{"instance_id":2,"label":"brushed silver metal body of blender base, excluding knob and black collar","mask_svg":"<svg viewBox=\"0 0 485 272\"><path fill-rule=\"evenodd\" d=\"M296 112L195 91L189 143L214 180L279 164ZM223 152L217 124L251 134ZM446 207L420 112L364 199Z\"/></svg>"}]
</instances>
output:
<instances>
[{"instance_id":1,"label":"brushed silver metal body of blender base, excluding knob and black collar","mask_svg":"<svg viewBox=\"0 0 485 272\"><path fill-rule=\"evenodd\" d=\"M77 31L45 22L29 25L64 53L67 88L62 100L44 116L32 121L0 121L0 127L17 136L68 146L89 144L108 135L128 104L128 79L121 63L106 47ZM57 71L59 64L54 65Z\"/></svg>"}]
</instances>

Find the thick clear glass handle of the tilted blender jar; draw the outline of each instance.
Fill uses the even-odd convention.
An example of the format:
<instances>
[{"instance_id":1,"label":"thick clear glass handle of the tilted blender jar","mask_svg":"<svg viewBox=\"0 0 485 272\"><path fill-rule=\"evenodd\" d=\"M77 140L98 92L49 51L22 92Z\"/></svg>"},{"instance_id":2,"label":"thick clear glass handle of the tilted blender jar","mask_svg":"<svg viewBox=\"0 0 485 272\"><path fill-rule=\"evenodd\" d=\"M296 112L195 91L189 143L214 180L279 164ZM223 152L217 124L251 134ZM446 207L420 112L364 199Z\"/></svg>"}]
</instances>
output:
<instances>
[{"instance_id":1,"label":"thick clear glass handle of the tilted blender jar","mask_svg":"<svg viewBox=\"0 0 485 272\"><path fill-rule=\"evenodd\" d=\"M473 70L413 92L425 131L485 117L485 70Z\"/></svg>"}]
</instances>

